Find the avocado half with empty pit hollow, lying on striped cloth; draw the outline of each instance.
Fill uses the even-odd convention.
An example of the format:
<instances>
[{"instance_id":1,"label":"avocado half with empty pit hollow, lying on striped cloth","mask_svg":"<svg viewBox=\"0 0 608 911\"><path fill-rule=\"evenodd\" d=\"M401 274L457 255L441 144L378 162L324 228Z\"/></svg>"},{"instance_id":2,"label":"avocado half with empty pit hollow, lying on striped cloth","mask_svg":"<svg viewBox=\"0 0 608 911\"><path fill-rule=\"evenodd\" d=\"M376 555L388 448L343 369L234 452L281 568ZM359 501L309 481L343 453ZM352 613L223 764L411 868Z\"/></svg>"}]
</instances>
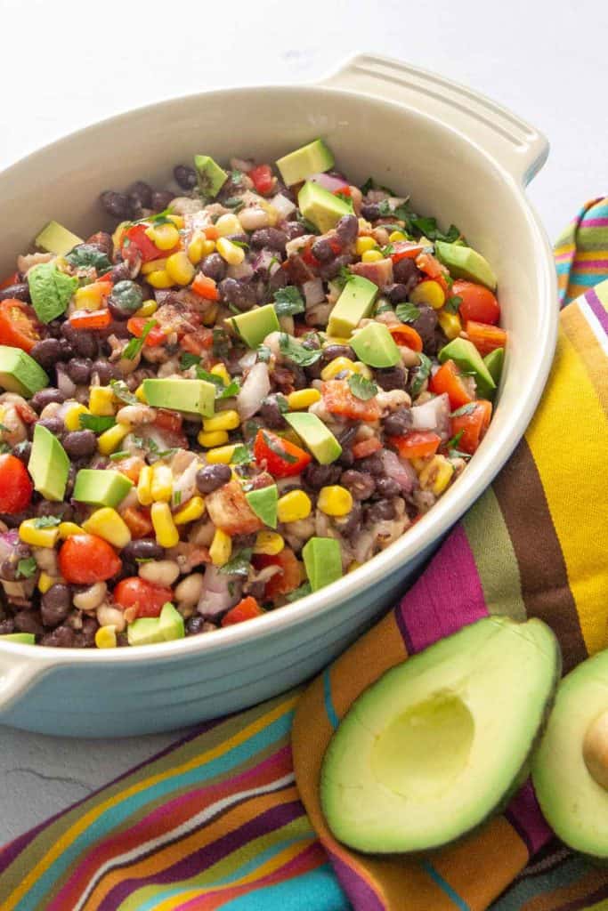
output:
<instances>
[{"instance_id":1,"label":"avocado half with empty pit hollow, lying on striped cloth","mask_svg":"<svg viewBox=\"0 0 608 911\"><path fill-rule=\"evenodd\" d=\"M519 786L560 672L541 620L486 618L376 681L332 738L321 802L335 837L370 853L449 844Z\"/></svg>"}]
</instances>

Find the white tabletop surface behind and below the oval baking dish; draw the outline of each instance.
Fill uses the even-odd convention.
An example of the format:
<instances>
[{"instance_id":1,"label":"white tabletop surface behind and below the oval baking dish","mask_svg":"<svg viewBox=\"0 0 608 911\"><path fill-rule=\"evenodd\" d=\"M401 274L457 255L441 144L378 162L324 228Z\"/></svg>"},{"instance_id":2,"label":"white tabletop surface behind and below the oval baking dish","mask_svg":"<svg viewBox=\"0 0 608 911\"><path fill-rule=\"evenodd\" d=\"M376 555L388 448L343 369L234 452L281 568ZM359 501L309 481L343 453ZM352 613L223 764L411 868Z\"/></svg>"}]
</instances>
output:
<instances>
[{"instance_id":1,"label":"white tabletop surface behind and below the oval baking dish","mask_svg":"<svg viewBox=\"0 0 608 911\"><path fill-rule=\"evenodd\" d=\"M0 0L0 35L0 168L129 107L314 81L369 51L476 87L550 138L530 196L551 238L608 193L605 0ZM77 742L0 727L0 842L173 737Z\"/></svg>"}]
</instances>

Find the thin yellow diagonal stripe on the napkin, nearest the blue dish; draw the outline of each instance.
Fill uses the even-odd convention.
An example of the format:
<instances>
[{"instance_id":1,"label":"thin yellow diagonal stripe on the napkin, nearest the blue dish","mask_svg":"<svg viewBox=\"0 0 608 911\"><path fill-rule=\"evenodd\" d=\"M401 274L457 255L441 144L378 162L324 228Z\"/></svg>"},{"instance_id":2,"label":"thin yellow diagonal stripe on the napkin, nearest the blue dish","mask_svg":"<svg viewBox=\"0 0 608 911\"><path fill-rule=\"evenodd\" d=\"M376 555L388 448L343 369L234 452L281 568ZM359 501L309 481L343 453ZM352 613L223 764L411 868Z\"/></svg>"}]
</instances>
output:
<instances>
[{"instance_id":1,"label":"thin yellow diagonal stripe on the napkin, nearest the blue dish","mask_svg":"<svg viewBox=\"0 0 608 911\"><path fill-rule=\"evenodd\" d=\"M272 724L272 722L276 721L276 719L283 715L286 711L291 711L298 699L299 693L293 696L291 699L281 702L275 709L273 709L273 711L270 711L267 715L263 715L255 722L252 722L252 724L244 728L242 731L234 734L230 740L224 741L208 752L204 752L201 755L194 757L194 759L191 759L190 762L183 763L182 765L179 765L175 768L170 768L167 770L167 772L160 773L158 775L152 775L150 778L146 778L143 781L139 781L131 785L127 791L123 792L120 795L119 802L122 803L133 794L145 791L147 788L165 781L168 778L174 778L182 773L190 772L192 769L195 769L198 766L209 763L211 760L218 759L225 753L230 752L240 743L248 740L256 733L262 731L263 728L267 727L269 724ZM82 816L76 824L67 829L67 832L65 832L57 840L50 851L26 875L26 878L23 880L21 885L15 889L15 892L13 892L13 894L5 900L5 905L3 905L2 911L13 911L21 898L26 895L29 889L36 883L36 880L46 872L48 867L57 860L57 857L59 857L67 849L67 847L69 847L70 844L76 841L78 835L82 834L89 825L92 825L98 816L103 814L106 810L114 805L116 805L116 795L113 794L108 798L107 801L94 807L94 809L90 810L88 814Z\"/></svg>"}]
</instances>

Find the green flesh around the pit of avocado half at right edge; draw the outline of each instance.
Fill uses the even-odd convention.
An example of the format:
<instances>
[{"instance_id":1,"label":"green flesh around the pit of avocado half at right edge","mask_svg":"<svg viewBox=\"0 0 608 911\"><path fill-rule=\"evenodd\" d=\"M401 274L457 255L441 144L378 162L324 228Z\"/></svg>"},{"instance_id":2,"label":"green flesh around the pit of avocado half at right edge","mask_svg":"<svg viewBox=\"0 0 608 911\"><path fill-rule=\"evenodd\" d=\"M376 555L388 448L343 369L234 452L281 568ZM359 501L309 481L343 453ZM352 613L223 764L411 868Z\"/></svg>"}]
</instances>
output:
<instances>
[{"instance_id":1,"label":"green flesh around the pit of avocado half at right edge","mask_svg":"<svg viewBox=\"0 0 608 911\"><path fill-rule=\"evenodd\" d=\"M574 851L608 861L608 790L590 773L582 744L590 726L608 711L608 650L579 664L562 680L532 781L555 834Z\"/></svg>"}]
</instances>

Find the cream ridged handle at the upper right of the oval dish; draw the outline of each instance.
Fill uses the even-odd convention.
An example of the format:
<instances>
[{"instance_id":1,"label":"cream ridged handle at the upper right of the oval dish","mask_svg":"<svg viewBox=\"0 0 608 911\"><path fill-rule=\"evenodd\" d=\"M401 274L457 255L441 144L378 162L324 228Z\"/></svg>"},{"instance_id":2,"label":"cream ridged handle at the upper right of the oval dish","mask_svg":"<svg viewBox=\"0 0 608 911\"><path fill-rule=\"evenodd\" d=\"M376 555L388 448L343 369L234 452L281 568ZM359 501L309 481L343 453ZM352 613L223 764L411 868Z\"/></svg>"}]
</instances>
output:
<instances>
[{"instance_id":1,"label":"cream ridged handle at the upper right of the oval dish","mask_svg":"<svg viewBox=\"0 0 608 911\"><path fill-rule=\"evenodd\" d=\"M360 54L321 85L421 108L475 142L524 186L549 154L547 139L507 108L466 86L400 60Z\"/></svg>"}]
</instances>

